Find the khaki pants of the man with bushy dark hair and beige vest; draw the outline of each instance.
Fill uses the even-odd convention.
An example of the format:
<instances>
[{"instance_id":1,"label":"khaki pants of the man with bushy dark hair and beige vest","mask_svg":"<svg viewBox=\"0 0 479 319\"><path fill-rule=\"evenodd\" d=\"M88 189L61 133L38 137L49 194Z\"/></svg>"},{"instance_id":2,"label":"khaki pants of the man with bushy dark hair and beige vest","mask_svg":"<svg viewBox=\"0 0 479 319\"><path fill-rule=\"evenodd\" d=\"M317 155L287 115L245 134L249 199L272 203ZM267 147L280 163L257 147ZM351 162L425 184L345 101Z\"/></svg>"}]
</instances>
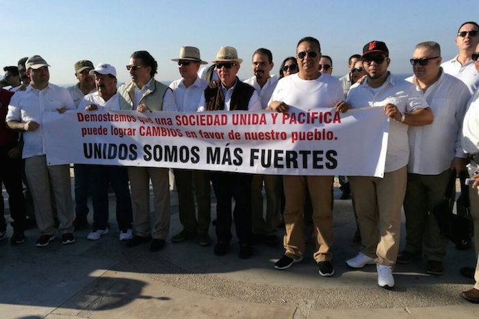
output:
<instances>
[{"instance_id":1,"label":"khaki pants of the man with bushy dark hair and beige vest","mask_svg":"<svg viewBox=\"0 0 479 319\"><path fill-rule=\"evenodd\" d=\"M133 225L138 236L166 239L170 231L170 186L168 169L128 167L133 203ZM150 179L153 184L153 208L156 217L153 232L150 223Z\"/></svg>"}]
</instances>

